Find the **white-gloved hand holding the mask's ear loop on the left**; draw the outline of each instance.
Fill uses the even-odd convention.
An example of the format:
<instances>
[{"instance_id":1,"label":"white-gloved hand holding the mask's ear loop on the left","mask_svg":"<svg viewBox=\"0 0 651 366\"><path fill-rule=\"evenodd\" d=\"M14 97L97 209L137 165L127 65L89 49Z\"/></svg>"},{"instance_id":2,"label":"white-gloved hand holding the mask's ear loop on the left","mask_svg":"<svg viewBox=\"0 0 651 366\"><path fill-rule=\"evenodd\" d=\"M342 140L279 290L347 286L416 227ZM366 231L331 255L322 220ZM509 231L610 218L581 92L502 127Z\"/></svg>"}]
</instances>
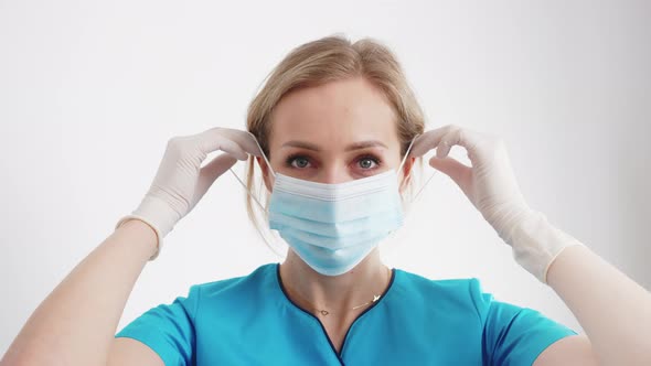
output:
<instances>
[{"instance_id":1,"label":"white-gloved hand holding the mask's ear loop on the left","mask_svg":"<svg viewBox=\"0 0 651 366\"><path fill-rule=\"evenodd\" d=\"M207 154L216 150L225 153L201 168ZM222 173L237 160L246 160L248 154L257 157L260 153L255 138L247 131L217 127L198 134L171 138L145 198L130 215L120 218L116 229L134 218L151 226L158 245L149 260L156 259L163 237L194 208Z\"/></svg>"}]
</instances>

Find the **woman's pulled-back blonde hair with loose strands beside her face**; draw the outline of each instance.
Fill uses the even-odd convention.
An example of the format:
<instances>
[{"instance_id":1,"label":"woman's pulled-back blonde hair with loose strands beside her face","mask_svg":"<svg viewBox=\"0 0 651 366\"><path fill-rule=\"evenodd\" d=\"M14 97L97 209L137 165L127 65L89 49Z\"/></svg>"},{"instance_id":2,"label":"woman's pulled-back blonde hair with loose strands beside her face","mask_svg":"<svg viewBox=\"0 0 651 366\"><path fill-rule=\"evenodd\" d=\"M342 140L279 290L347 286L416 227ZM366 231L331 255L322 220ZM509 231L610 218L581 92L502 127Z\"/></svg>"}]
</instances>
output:
<instances>
[{"instance_id":1,"label":"woman's pulled-back blonde hair with loose strands beside her face","mask_svg":"<svg viewBox=\"0 0 651 366\"><path fill-rule=\"evenodd\" d=\"M395 55L385 45L369 37L352 43L342 35L331 35L294 49L271 71L264 87L250 103L246 128L256 137L263 152L270 159L268 139L271 130L271 112L285 95L300 88L359 76L380 88L393 107L397 116L397 133L401 141L401 158L403 158L412 140L424 132L423 110ZM421 159L418 160L421 165ZM252 191L257 184L254 157L249 157L246 175L246 187L255 194L256 192ZM413 182L414 180L407 187L409 194L413 194ZM264 182L260 180L256 196L260 197L258 202L265 205L262 215L266 223L268 192L263 185ZM253 225L268 244L260 230L260 218L256 216L248 194L246 209Z\"/></svg>"}]
</instances>

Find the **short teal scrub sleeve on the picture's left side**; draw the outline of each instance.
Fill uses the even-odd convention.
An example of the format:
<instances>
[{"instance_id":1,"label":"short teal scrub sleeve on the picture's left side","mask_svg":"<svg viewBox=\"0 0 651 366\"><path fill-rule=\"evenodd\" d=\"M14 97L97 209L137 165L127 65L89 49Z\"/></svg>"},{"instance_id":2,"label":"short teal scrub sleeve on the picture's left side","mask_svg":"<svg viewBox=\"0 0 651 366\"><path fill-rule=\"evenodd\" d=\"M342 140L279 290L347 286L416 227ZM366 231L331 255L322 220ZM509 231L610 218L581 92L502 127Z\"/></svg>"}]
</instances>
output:
<instances>
[{"instance_id":1,"label":"short teal scrub sleeve on the picture's left side","mask_svg":"<svg viewBox=\"0 0 651 366\"><path fill-rule=\"evenodd\" d=\"M186 298L160 304L127 324L115 337L142 342L169 365L191 365L194 359L194 319L200 288L190 288Z\"/></svg>"}]
</instances>

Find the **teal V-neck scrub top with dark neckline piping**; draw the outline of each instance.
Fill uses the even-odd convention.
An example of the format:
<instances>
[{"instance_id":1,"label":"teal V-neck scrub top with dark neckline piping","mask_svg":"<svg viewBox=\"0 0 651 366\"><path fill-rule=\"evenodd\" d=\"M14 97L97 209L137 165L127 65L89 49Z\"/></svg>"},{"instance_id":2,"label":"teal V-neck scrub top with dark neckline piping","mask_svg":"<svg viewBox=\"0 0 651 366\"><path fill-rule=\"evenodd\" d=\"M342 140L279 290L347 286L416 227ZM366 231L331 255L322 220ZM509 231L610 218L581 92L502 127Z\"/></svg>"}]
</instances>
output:
<instances>
[{"instance_id":1,"label":"teal V-neck scrub top with dark neckline piping","mask_svg":"<svg viewBox=\"0 0 651 366\"><path fill-rule=\"evenodd\" d=\"M166 365L532 365L573 330L500 302L477 278L430 280L393 269L361 311L341 353L318 317L285 292L279 263L190 287L116 337L138 340Z\"/></svg>"}]
</instances>

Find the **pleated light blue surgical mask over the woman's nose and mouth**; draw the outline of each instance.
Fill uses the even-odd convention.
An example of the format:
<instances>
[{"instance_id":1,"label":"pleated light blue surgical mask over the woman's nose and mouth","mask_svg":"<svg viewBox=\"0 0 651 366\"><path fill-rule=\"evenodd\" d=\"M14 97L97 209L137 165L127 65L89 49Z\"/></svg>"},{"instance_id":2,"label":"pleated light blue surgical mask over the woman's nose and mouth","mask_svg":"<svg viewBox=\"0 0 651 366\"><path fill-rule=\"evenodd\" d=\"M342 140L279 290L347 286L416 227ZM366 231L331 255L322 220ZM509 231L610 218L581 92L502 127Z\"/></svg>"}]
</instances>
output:
<instances>
[{"instance_id":1,"label":"pleated light blue surgical mask over the woman's nose and mouth","mask_svg":"<svg viewBox=\"0 0 651 366\"><path fill-rule=\"evenodd\" d=\"M271 171L269 228L314 271L324 276L350 271L403 225L397 172L412 144L397 170L344 183L318 183ZM263 158L271 169L264 153Z\"/></svg>"}]
</instances>

